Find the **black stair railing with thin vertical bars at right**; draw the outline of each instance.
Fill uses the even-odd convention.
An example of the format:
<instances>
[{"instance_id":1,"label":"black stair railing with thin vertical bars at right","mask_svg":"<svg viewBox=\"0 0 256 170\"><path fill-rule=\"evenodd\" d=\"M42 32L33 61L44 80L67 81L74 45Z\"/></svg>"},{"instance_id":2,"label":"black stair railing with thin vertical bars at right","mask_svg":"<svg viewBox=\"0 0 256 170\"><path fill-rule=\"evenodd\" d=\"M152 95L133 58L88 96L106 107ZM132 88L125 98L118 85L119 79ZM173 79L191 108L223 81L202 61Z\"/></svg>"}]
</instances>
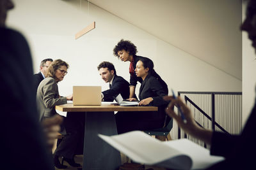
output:
<instances>
[{"instance_id":1,"label":"black stair railing with thin vertical bars at right","mask_svg":"<svg viewBox=\"0 0 256 170\"><path fill-rule=\"evenodd\" d=\"M198 108L198 106L194 106L193 103L190 103L191 100L189 98L186 99L186 104L189 102L189 108L193 111L195 119L204 127L209 127L209 129L211 127L212 130L228 132L229 134L239 134L241 132L241 92L184 92L184 94L190 96L189 98L193 98L193 101L195 101L194 104L196 103L196 105L200 106L200 108ZM180 95L182 95L182 92L178 92L178 96ZM208 95L209 97L207 97ZM201 113L200 110L204 110L204 113ZM209 115L211 119L207 120L207 118L205 118L207 117L206 115ZM196 140L195 138L191 138L188 134L185 134L179 126L177 127L179 139L184 136L192 141ZM175 126L175 129L177 129L177 127ZM200 140L196 141L203 146L205 145Z\"/></svg>"}]
</instances>

